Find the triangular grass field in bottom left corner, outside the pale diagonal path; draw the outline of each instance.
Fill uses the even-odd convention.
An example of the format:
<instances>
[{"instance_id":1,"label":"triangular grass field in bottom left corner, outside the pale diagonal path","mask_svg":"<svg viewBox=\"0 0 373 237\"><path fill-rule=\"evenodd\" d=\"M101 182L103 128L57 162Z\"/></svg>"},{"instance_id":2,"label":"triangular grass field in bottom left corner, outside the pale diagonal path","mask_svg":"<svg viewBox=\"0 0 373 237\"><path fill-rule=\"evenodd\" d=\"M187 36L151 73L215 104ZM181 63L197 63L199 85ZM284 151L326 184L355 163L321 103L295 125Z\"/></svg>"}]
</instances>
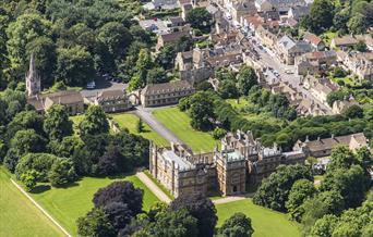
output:
<instances>
[{"instance_id":1,"label":"triangular grass field in bottom left corner, outside the pale diagonal path","mask_svg":"<svg viewBox=\"0 0 373 237\"><path fill-rule=\"evenodd\" d=\"M10 182L10 176L1 166L0 236L64 236L64 234Z\"/></svg>"}]
</instances>

